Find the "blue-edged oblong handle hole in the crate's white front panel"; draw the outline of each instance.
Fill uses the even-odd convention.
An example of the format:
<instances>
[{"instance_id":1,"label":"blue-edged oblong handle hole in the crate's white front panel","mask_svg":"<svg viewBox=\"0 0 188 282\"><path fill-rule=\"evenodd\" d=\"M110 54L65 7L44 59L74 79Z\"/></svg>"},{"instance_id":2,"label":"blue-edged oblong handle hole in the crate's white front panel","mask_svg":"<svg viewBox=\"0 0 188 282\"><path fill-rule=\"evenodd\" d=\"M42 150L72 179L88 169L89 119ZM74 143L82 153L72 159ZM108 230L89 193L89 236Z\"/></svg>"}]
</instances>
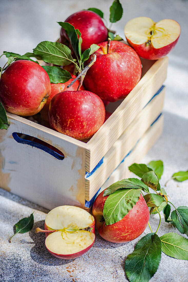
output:
<instances>
[{"instance_id":1,"label":"blue-edged oblong handle hole in the crate's white front panel","mask_svg":"<svg viewBox=\"0 0 188 282\"><path fill-rule=\"evenodd\" d=\"M23 134L23 133L18 133L18 132L13 132L12 136L16 142L21 143L21 144L27 144L32 147L41 149L45 151L46 153L49 153L53 157L57 158L58 160L63 160L65 158L65 155L58 150L56 147L48 144L47 142L44 142L36 137Z\"/></svg>"}]
</instances>

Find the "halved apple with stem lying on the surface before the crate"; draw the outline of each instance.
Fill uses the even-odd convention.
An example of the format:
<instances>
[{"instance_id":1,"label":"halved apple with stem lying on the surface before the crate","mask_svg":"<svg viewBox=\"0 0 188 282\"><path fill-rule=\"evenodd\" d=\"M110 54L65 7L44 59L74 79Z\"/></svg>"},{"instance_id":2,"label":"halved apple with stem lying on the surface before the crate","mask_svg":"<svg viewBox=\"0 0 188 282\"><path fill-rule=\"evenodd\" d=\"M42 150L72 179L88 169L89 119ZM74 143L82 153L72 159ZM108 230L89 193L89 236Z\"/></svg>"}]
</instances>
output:
<instances>
[{"instance_id":1,"label":"halved apple with stem lying on the surface before the crate","mask_svg":"<svg viewBox=\"0 0 188 282\"><path fill-rule=\"evenodd\" d=\"M87 211L75 206L59 206L45 218L47 250L60 259L73 259L85 254L95 241L95 219Z\"/></svg>"}]
</instances>

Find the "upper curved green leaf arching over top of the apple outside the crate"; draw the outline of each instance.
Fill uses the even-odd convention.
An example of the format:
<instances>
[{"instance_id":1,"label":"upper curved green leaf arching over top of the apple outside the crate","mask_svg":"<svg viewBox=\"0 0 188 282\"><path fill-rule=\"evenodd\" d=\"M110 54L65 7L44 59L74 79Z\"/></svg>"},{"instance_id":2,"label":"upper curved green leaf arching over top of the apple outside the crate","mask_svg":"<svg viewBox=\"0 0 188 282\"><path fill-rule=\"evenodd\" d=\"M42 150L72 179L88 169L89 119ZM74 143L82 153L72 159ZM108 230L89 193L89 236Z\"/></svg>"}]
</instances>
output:
<instances>
[{"instance_id":1,"label":"upper curved green leaf arching over top of the apple outside the crate","mask_svg":"<svg viewBox=\"0 0 188 282\"><path fill-rule=\"evenodd\" d=\"M113 194L119 189L142 189L143 191L148 191L148 187L137 178L122 179L110 185L104 190L103 197Z\"/></svg>"}]
</instances>

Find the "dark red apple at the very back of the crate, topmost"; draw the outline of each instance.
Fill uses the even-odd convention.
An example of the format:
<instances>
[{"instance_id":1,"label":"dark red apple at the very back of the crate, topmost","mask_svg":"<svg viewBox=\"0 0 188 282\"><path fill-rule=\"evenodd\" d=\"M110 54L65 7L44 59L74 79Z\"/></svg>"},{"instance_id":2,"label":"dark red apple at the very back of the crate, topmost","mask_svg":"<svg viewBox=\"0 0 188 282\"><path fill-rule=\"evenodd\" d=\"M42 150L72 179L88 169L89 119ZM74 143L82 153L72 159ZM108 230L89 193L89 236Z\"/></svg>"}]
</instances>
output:
<instances>
[{"instance_id":1,"label":"dark red apple at the very back of the crate, topmost","mask_svg":"<svg viewBox=\"0 0 188 282\"><path fill-rule=\"evenodd\" d=\"M65 22L70 23L79 29L82 36L82 52L88 49L91 44L98 44L107 39L108 30L101 17L92 11L80 11L69 16ZM61 41L67 38L64 28L60 31ZM68 38L67 38L68 39Z\"/></svg>"}]
</instances>

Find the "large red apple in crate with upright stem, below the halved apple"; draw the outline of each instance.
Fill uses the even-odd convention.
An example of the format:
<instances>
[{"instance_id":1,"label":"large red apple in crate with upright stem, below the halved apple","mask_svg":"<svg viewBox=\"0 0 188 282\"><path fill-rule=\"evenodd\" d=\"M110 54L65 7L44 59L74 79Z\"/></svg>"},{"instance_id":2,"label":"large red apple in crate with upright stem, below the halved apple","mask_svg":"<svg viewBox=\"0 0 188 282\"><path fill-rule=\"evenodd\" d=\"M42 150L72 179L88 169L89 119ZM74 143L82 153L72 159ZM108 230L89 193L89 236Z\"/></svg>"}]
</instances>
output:
<instances>
[{"instance_id":1,"label":"large red apple in crate with upright stem, below the halved apple","mask_svg":"<svg viewBox=\"0 0 188 282\"><path fill-rule=\"evenodd\" d=\"M111 41L108 53L107 42L98 45L96 62L87 71L84 86L106 101L123 99L141 78L139 56L119 41Z\"/></svg>"}]
</instances>

